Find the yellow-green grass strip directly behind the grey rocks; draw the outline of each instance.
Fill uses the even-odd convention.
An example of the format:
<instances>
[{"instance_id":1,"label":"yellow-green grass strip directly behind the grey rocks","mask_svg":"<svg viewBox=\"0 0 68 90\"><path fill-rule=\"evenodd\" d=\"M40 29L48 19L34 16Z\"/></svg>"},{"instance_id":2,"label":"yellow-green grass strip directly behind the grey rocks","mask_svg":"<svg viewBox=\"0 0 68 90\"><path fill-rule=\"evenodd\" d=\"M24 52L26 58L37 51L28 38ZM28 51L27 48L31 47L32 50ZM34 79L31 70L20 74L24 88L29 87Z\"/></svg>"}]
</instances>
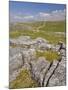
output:
<instances>
[{"instance_id":1,"label":"yellow-green grass strip directly behind the grey rocks","mask_svg":"<svg viewBox=\"0 0 68 90\"><path fill-rule=\"evenodd\" d=\"M37 37L42 37L46 40L49 41L49 43L54 43L54 44L57 44L59 41L62 41L62 42L65 42L65 36L64 35L55 35L54 33L48 33L48 32L33 32L33 31L26 31L26 30L23 30L23 31L12 31L10 32L10 37L11 38L17 38L19 36L30 36L32 39L35 39Z\"/></svg>"}]
</instances>

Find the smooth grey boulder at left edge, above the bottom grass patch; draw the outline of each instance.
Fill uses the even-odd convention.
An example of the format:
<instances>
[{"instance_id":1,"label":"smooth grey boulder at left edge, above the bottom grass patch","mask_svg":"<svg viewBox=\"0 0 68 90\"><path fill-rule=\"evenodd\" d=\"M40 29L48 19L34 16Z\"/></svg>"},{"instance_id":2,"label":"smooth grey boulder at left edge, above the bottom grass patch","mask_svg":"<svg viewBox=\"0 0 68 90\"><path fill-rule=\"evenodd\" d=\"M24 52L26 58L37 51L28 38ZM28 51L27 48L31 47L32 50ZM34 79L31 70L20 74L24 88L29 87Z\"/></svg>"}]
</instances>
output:
<instances>
[{"instance_id":1,"label":"smooth grey boulder at left edge, above the bottom grass patch","mask_svg":"<svg viewBox=\"0 0 68 90\"><path fill-rule=\"evenodd\" d=\"M9 61L9 71L13 73L23 66L23 60L21 53L14 55Z\"/></svg>"}]
</instances>

